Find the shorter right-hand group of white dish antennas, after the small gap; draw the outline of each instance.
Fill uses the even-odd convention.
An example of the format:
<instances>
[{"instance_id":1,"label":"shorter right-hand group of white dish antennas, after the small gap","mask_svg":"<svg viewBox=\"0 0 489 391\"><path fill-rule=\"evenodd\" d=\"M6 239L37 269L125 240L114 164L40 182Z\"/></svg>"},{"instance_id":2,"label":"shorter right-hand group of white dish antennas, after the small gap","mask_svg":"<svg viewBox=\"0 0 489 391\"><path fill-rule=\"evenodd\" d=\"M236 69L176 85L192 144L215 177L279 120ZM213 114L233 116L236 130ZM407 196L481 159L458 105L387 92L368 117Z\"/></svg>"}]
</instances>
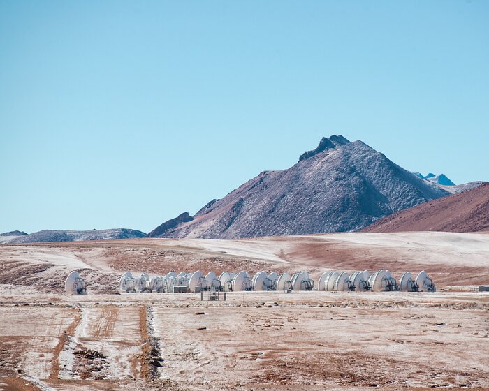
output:
<instances>
[{"instance_id":1,"label":"shorter right-hand group of white dish antennas, after the small gap","mask_svg":"<svg viewBox=\"0 0 489 391\"><path fill-rule=\"evenodd\" d=\"M356 290L382 292L402 290L403 292L435 292L436 287L428 273L424 270L418 273L416 279L411 272L402 274L399 283L388 270L379 270L370 274L363 272L326 272L321 275L316 286L317 290Z\"/></svg>"}]
</instances>

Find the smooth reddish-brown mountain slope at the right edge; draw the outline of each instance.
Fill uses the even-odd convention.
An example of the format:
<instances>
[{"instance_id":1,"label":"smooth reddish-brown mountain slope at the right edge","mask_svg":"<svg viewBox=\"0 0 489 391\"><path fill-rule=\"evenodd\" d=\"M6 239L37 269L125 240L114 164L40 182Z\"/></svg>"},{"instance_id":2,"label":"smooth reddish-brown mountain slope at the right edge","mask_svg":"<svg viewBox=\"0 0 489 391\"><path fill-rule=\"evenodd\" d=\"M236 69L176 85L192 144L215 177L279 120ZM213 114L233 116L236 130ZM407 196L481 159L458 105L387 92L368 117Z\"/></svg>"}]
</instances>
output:
<instances>
[{"instance_id":1,"label":"smooth reddish-brown mountain slope at the right edge","mask_svg":"<svg viewBox=\"0 0 489 391\"><path fill-rule=\"evenodd\" d=\"M391 214L363 231L489 231L489 183Z\"/></svg>"}]
</instances>

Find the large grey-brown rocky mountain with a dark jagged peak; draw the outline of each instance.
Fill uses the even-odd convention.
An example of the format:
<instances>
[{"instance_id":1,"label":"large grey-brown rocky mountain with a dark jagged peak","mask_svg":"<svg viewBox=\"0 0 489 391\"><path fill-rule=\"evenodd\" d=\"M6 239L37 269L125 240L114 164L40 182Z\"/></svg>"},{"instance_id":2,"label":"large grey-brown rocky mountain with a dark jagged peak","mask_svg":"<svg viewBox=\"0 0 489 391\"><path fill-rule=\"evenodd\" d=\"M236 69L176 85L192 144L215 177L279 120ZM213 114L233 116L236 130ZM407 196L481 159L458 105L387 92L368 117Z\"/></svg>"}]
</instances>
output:
<instances>
[{"instance_id":1,"label":"large grey-brown rocky mountain with a dark jagged peak","mask_svg":"<svg viewBox=\"0 0 489 391\"><path fill-rule=\"evenodd\" d=\"M360 230L448 194L360 140L333 135L291 168L263 171L209 202L191 221L185 215L189 221L175 225L173 219L150 236L235 239Z\"/></svg>"}]
</instances>

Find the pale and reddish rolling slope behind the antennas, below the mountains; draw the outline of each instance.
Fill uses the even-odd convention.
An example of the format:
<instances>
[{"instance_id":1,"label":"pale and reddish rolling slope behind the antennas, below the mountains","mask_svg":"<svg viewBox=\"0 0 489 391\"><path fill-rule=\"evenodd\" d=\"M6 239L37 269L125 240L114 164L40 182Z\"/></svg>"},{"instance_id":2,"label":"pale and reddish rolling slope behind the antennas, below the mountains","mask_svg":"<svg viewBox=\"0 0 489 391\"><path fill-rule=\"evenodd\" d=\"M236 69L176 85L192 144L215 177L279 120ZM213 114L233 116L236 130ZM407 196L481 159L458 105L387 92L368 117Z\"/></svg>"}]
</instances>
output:
<instances>
[{"instance_id":1,"label":"pale and reddish rolling slope behind the antennas, below the mountains","mask_svg":"<svg viewBox=\"0 0 489 391\"><path fill-rule=\"evenodd\" d=\"M489 285L489 233L336 233L242 240L125 239L0 245L0 293L62 293L78 270L92 293L115 293L124 271L150 275L247 270L427 270L439 288ZM24 288L19 289L20 286Z\"/></svg>"}]
</instances>

